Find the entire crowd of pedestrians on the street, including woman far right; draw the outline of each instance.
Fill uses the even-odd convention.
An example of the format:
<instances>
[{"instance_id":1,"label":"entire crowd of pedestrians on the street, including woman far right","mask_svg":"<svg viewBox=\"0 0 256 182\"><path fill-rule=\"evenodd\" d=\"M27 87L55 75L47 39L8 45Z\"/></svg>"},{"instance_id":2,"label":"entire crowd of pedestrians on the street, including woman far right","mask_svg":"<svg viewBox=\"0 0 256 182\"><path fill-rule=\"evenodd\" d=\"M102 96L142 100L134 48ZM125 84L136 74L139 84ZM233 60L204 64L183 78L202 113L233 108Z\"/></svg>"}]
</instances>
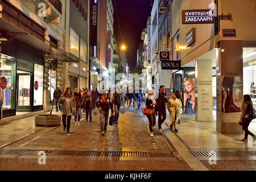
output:
<instances>
[{"instance_id":1,"label":"entire crowd of pedestrians on the street, including woman far right","mask_svg":"<svg viewBox=\"0 0 256 182\"><path fill-rule=\"evenodd\" d=\"M137 101L137 109L141 108L142 98L146 100L146 108L143 110L143 114L148 119L148 133L150 137L154 137L153 129L156 125L156 116L158 116L158 130L160 134L163 134L162 124L166 120L166 110L170 113L170 130L178 133L177 125L180 124L180 113L182 111L182 96L179 90L172 93L171 98L167 100L167 94L164 92L165 86L161 85L159 88L158 98L155 99L154 90L146 90L146 94L142 93L139 89L135 93L135 88L127 88L127 92L123 93L122 88L115 88L115 93L102 93L97 91L94 86L93 90L87 88L80 90L75 88L72 92L71 88L66 88L64 92L61 92L59 87L56 88L53 93L55 100L56 111L61 110L63 132L67 131L68 136L71 118L75 119L75 126L80 126L82 121L82 114L86 114L86 123L88 118L90 125L92 125L92 115L97 115L97 109L100 113L100 127L101 135L105 135L106 128L108 126L109 110L111 110L111 116L114 117L115 124L118 124L119 110L120 108L135 108L134 102ZM110 91L110 89L109 89ZM127 103L127 104L126 104ZM127 107L126 107L127 105ZM167 109L166 109L167 105ZM252 119L256 118L253 102L249 95L243 96L243 104L241 106L241 119L239 124L242 125L243 131L245 131L245 137L241 139L243 142L247 142L248 135L256 139L256 135L248 130ZM93 113L93 114L92 114Z\"/></svg>"}]
</instances>

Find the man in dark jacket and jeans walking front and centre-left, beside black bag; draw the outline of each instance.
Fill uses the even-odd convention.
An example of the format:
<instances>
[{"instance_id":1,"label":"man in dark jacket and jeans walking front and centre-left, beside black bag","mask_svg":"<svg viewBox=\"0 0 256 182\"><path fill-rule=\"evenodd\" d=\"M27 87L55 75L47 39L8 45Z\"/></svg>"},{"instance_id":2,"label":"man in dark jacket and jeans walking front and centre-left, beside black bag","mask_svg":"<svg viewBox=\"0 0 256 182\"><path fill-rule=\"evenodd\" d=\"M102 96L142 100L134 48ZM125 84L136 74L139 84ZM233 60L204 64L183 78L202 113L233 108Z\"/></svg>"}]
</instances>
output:
<instances>
[{"instance_id":1,"label":"man in dark jacket and jeans walking front and centre-left, beside black bag","mask_svg":"<svg viewBox=\"0 0 256 182\"><path fill-rule=\"evenodd\" d=\"M109 109L111 109L111 115L114 115L113 110L113 101L111 98L107 97L106 93L102 93L102 96L98 97L96 101L96 106L100 110L101 114L101 135L104 136L106 131L106 127L108 126L108 119L109 119ZM104 123L105 120L105 123Z\"/></svg>"}]
</instances>

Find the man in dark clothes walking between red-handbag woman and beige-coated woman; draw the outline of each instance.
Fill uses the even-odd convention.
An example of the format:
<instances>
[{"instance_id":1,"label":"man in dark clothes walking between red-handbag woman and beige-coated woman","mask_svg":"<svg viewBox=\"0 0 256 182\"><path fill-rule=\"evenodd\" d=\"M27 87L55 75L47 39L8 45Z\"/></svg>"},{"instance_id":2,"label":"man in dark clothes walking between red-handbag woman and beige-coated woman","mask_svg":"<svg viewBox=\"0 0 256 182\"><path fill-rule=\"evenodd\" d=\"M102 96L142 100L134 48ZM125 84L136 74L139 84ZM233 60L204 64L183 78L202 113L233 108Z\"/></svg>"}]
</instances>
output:
<instances>
[{"instance_id":1,"label":"man in dark clothes walking between red-handbag woman and beige-coated woman","mask_svg":"<svg viewBox=\"0 0 256 182\"><path fill-rule=\"evenodd\" d=\"M159 129L159 133L163 133L162 131L162 123L164 122L164 120L166 120L166 102L167 102L167 96L166 93L164 93L164 85L160 86L160 90L159 90L159 96L156 99L156 103L158 105L156 105L158 113L156 115L158 115L158 129Z\"/></svg>"}]
</instances>

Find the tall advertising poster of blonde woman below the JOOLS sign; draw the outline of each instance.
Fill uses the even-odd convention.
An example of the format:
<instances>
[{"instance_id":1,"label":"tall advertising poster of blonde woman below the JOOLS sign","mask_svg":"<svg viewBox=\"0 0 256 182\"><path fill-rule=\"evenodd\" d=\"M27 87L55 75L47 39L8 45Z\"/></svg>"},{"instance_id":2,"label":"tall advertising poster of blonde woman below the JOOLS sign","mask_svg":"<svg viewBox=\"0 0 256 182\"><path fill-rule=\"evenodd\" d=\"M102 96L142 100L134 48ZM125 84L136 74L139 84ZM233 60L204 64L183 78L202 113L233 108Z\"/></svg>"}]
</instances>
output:
<instances>
[{"instance_id":1,"label":"tall advertising poster of blonde woman below the JOOLS sign","mask_svg":"<svg viewBox=\"0 0 256 182\"><path fill-rule=\"evenodd\" d=\"M195 114L195 68L184 69L184 114Z\"/></svg>"}]
</instances>

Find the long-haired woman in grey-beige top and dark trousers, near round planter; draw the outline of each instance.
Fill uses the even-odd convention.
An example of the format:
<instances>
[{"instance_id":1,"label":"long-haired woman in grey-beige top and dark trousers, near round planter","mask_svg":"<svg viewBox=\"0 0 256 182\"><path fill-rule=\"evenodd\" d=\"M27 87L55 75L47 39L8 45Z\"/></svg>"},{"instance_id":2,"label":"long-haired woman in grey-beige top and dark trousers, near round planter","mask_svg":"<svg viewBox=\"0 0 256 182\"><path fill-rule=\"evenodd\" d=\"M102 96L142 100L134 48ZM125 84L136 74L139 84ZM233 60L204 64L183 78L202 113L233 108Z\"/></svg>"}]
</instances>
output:
<instances>
[{"instance_id":1,"label":"long-haired woman in grey-beige top and dark trousers, near round planter","mask_svg":"<svg viewBox=\"0 0 256 182\"><path fill-rule=\"evenodd\" d=\"M73 96L71 88L66 88L65 92L61 96L60 99L60 104L61 104L61 114L62 114L62 123L63 123L63 131L65 131L66 126L67 126L67 133L68 136L69 134L69 129L70 129L70 123L71 123L71 116L75 115L76 113L76 101ZM67 122L67 125L66 125Z\"/></svg>"}]
</instances>

